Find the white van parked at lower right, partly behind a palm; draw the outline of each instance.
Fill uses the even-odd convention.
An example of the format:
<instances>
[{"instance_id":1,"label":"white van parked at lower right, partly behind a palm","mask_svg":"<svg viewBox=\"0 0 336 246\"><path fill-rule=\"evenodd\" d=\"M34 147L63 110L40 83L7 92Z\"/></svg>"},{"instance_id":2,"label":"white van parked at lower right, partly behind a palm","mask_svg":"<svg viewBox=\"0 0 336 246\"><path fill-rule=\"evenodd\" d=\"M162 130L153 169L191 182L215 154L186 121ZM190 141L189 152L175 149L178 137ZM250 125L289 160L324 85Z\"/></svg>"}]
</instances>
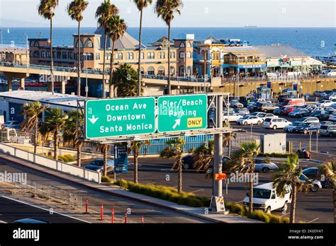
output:
<instances>
[{"instance_id":1,"label":"white van parked at lower right, partly behind a palm","mask_svg":"<svg viewBox=\"0 0 336 246\"><path fill-rule=\"evenodd\" d=\"M244 206L249 206L250 197L248 194L243 200ZM286 187L286 194L284 197L279 197L276 190L273 188L273 182L264 185L258 185L253 189L253 209L262 209L267 213L281 209L287 210L288 204L291 203L291 186Z\"/></svg>"}]
</instances>

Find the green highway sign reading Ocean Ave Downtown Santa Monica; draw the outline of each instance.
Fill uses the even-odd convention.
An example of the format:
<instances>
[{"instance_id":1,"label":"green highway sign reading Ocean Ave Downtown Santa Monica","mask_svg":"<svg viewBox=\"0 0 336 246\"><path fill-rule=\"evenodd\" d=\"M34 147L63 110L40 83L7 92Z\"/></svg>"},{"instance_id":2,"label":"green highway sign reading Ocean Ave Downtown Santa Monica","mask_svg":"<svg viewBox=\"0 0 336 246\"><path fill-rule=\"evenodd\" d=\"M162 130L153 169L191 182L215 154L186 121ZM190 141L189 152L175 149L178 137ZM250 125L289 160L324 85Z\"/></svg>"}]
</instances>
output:
<instances>
[{"instance_id":1,"label":"green highway sign reading Ocean Ave Downtown Santa Monica","mask_svg":"<svg viewBox=\"0 0 336 246\"><path fill-rule=\"evenodd\" d=\"M155 132L155 98L86 101L86 139L153 132Z\"/></svg>"}]
</instances>

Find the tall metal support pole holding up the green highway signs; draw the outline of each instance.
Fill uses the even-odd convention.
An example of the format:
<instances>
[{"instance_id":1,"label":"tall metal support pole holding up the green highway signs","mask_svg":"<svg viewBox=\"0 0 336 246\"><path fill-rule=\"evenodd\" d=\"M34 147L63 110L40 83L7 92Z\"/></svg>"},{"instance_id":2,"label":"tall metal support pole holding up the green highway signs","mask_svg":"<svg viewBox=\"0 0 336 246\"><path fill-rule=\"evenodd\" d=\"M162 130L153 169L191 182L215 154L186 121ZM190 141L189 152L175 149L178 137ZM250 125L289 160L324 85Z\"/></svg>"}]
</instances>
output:
<instances>
[{"instance_id":1,"label":"tall metal support pole holding up the green highway signs","mask_svg":"<svg viewBox=\"0 0 336 246\"><path fill-rule=\"evenodd\" d=\"M223 95L217 95L217 113L216 113L217 127L223 127ZM223 158L223 134L215 134L214 136L214 160L213 160L213 199L215 197L222 197L222 180L215 180L216 173L222 173L222 158ZM216 202L211 204L215 205Z\"/></svg>"}]
</instances>

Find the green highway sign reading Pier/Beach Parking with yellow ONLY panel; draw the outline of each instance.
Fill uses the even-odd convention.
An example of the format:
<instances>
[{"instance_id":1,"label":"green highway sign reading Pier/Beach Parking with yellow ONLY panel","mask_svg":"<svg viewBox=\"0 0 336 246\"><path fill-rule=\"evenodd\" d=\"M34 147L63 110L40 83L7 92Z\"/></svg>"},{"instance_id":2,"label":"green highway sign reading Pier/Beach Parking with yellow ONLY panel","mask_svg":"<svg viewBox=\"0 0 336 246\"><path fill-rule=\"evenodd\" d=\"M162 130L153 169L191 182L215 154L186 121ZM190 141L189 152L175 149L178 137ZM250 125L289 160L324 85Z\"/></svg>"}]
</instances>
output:
<instances>
[{"instance_id":1,"label":"green highway sign reading Pier/Beach Parking with yellow ONLY panel","mask_svg":"<svg viewBox=\"0 0 336 246\"><path fill-rule=\"evenodd\" d=\"M157 100L159 132L206 129L208 97L206 94L168 95Z\"/></svg>"}]
</instances>

